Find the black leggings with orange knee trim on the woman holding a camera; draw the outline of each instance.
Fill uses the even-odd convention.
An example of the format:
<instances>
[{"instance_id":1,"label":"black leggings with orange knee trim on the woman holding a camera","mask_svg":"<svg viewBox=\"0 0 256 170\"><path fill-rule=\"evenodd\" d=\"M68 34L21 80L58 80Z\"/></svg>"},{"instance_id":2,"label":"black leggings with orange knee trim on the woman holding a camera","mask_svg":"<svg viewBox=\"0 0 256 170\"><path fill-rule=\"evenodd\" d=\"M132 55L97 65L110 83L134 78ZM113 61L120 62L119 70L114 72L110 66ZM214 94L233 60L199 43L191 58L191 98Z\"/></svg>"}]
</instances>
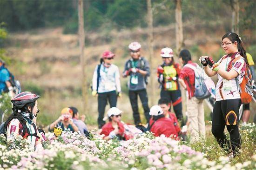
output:
<instances>
[{"instance_id":1,"label":"black leggings with orange knee trim on the woman holding a camera","mask_svg":"<svg viewBox=\"0 0 256 170\"><path fill-rule=\"evenodd\" d=\"M213 108L212 134L216 137L219 145L227 152L232 149L234 155L241 147L241 137L238 129L238 113L241 99L229 99L216 101ZM230 135L230 142L224 134L225 125Z\"/></svg>"}]
</instances>

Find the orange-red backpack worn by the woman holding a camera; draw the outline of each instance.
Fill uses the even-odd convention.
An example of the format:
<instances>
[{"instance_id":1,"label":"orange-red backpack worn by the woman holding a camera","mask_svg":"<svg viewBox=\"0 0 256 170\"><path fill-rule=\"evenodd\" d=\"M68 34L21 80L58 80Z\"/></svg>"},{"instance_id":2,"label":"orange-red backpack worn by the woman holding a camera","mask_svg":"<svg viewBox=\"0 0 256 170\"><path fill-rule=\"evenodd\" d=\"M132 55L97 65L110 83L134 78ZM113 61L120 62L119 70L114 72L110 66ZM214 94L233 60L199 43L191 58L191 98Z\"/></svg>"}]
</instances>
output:
<instances>
[{"instance_id":1,"label":"orange-red backpack worn by the woman holding a camera","mask_svg":"<svg viewBox=\"0 0 256 170\"><path fill-rule=\"evenodd\" d=\"M236 63L238 59L244 59L244 58L241 55L239 55L238 57L234 57L234 59L232 59L229 62L229 66L227 69L228 72L231 70L231 68L233 67L233 65ZM237 90L240 93L241 101L243 105L249 104L253 96L252 75L251 75L249 66L246 63L245 63L245 66L246 66L245 74L244 74L242 83L239 84L238 78L237 77L235 78Z\"/></svg>"}]
</instances>

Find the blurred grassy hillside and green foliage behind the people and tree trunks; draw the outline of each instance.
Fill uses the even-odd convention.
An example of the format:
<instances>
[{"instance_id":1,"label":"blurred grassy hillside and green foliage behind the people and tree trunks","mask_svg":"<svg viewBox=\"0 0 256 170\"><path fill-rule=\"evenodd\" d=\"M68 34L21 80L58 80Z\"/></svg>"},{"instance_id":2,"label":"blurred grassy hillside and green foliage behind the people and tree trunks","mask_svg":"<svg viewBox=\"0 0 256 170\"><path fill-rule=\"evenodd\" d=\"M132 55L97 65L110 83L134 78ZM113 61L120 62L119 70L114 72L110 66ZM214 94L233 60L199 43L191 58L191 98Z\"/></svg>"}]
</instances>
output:
<instances>
[{"instance_id":1,"label":"blurred grassy hillside and green foliage behind the people and tree trunks","mask_svg":"<svg viewBox=\"0 0 256 170\"><path fill-rule=\"evenodd\" d=\"M236 0L235 0L236 1ZM234 0L181 0L182 48L190 50L195 62L202 55L215 61L224 54L222 36L232 30ZM256 62L256 1L238 0L239 35L246 51ZM177 0L152 0L154 55L151 73L155 76L154 98L148 85L149 104L157 104L160 89L156 81L156 67L162 64L160 50L175 45L175 9ZM88 111L83 110L82 72L78 36L77 0L1 0L0 1L0 57L21 83L22 91L32 91L39 99L39 126L46 126L60 116L61 109L75 106L86 115L86 123L96 126L97 99L88 88ZM141 54L148 59L148 11L146 0L84 0L84 29L86 82L91 84L94 68L101 53L116 54L114 64L123 71L130 58L128 44L141 43ZM178 61L177 55L175 61ZM216 82L216 77L213 78ZM123 97L117 107L124 111L122 119L133 123L128 100L127 79L121 78ZM186 110L183 92L183 114ZM151 105L150 105L151 106ZM106 107L108 110L109 105ZM251 105L251 117L256 105ZM142 107L140 107L143 116ZM8 112L10 114L11 111ZM206 121L210 120L205 106ZM8 115L7 114L7 115ZM145 120L144 120L145 121Z\"/></svg>"}]
</instances>

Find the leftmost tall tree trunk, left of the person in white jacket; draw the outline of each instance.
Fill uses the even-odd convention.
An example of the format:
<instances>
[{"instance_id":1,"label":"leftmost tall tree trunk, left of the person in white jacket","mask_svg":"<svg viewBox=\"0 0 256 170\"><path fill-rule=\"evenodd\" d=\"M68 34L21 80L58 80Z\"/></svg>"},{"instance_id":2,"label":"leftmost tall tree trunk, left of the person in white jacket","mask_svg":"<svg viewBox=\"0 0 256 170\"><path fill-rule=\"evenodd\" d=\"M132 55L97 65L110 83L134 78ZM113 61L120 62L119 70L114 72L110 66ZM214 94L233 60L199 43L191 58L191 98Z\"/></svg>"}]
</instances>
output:
<instances>
[{"instance_id":1,"label":"leftmost tall tree trunk, left of the person in white jacket","mask_svg":"<svg viewBox=\"0 0 256 170\"><path fill-rule=\"evenodd\" d=\"M87 101L87 83L86 83L86 63L84 58L84 11L83 11L83 0L78 0L78 24L79 24L79 45L80 45L80 62L82 69L82 96L83 96L83 111L87 113L88 111L88 101Z\"/></svg>"}]
</instances>

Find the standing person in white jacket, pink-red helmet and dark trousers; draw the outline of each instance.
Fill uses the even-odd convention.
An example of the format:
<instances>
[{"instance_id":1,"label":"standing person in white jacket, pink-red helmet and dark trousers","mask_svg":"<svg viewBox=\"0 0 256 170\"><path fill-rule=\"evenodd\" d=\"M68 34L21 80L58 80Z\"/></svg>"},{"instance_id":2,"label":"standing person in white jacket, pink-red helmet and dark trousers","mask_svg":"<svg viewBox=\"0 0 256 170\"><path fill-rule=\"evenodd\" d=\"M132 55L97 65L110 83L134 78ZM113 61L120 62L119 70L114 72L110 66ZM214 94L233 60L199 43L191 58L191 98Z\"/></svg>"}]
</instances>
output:
<instances>
[{"instance_id":1,"label":"standing person in white jacket, pink-red helmet and dark trousers","mask_svg":"<svg viewBox=\"0 0 256 170\"><path fill-rule=\"evenodd\" d=\"M117 96L121 97L120 72L112 64L114 57L115 54L110 51L103 52L100 64L94 70L92 95L95 97L98 94L99 128L106 123L103 118L107 100L111 108L116 106Z\"/></svg>"}]
</instances>

